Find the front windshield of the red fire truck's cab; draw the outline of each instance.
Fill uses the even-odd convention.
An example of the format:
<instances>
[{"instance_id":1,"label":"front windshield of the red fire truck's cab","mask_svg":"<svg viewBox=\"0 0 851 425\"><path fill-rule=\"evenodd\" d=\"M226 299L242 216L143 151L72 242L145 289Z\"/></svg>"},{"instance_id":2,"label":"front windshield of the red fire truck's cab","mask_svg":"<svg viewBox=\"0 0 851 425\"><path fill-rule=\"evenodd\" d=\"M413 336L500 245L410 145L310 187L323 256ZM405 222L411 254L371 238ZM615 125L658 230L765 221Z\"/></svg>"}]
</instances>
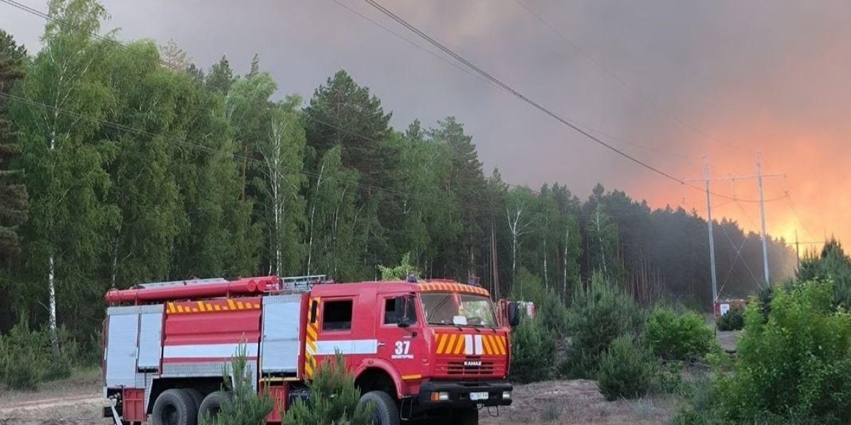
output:
<instances>
[{"instance_id":1,"label":"front windshield of the red fire truck's cab","mask_svg":"<svg viewBox=\"0 0 851 425\"><path fill-rule=\"evenodd\" d=\"M422 292L429 325L497 327L490 298L458 292Z\"/></svg>"}]
</instances>

